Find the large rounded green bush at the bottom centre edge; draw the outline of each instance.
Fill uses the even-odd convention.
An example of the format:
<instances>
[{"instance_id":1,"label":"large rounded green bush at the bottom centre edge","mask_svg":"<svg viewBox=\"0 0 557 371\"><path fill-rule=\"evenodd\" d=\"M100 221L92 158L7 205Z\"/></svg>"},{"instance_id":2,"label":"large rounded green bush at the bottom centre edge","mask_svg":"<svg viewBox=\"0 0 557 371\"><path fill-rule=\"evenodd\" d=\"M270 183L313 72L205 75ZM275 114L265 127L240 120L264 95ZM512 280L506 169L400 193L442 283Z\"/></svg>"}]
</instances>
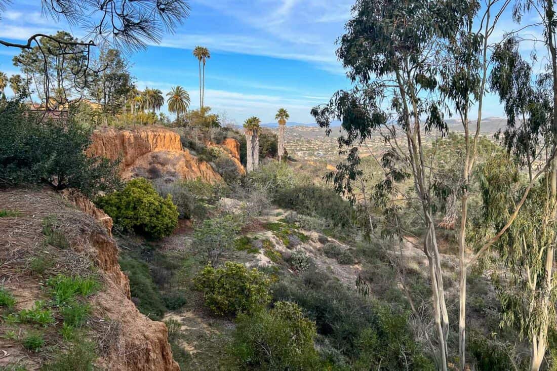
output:
<instances>
[{"instance_id":1,"label":"large rounded green bush at the bottom centre edge","mask_svg":"<svg viewBox=\"0 0 557 371\"><path fill-rule=\"evenodd\" d=\"M243 367L265 370L320 370L314 348L315 324L291 302L271 311L238 316L232 345Z\"/></svg>"}]
</instances>

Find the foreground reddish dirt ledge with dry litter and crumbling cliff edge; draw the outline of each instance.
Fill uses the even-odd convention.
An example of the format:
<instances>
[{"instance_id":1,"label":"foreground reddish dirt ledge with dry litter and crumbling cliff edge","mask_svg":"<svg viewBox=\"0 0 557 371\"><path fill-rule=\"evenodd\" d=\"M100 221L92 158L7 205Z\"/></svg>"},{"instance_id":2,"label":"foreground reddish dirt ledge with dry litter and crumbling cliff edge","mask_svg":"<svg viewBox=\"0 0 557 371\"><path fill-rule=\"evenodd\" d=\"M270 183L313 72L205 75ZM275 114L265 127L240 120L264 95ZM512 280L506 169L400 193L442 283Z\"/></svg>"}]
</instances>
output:
<instances>
[{"instance_id":1,"label":"foreground reddish dirt ledge with dry litter and crumbling cliff edge","mask_svg":"<svg viewBox=\"0 0 557 371\"><path fill-rule=\"evenodd\" d=\"M97 345L97 367L109 371L179 371L164 323L139 313L130 300L129 280L120 270L118 247L108 233L111 221L106 220L106 214L75 191L66 191L63 198L52 192L0 192L0 209L20 213L18 217L0 218L0 235L5 236L0 239L0 261L11 262L7 270L0 270L0 281L16 296L16 309L31 307L37 300L48 302L45 290L37 289L43 285L43 278L28 270L33 256L48 253L55 261L55 271L50 274L86 275L94 266L102 289L89 298L92 312L86 339ZM55 218L70 249L43 245L41 225L47 217ZM56 336L48 341L53 349L66 345L53 343ZM6 357L2 357L4 350ZM0 368L25 359L27 369L36 370L44 361L41 357L40 353L29 353L19 341L0 337Z\"/></svg>"}]
</instances>

